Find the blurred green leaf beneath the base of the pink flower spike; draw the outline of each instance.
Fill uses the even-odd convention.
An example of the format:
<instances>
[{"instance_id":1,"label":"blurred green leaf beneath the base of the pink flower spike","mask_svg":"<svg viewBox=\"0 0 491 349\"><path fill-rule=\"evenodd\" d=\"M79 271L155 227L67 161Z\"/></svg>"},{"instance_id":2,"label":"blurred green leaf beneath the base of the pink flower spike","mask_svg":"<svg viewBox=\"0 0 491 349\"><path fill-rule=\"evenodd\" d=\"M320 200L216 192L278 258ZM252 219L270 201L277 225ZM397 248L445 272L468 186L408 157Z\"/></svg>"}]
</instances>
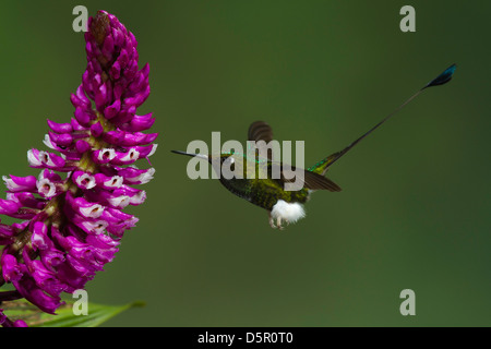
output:
<instances>
[{"instance_id":1,"label":"blurred green leaf beneath the base of the pink flower spike","mask_svg":"<svg viewBox=\"0 0 491 349\"><path fill-rule=\"evenodd\" d=\"M25 300L3 302L1 308L12 321L22 318L29 327L96 327L119 313L134 306L144 306L141 301L123 305L87 304L87 315L75 315L74 301L67 301L57 310L56 315L41 312Z\"/></svg>"}]
</instances>

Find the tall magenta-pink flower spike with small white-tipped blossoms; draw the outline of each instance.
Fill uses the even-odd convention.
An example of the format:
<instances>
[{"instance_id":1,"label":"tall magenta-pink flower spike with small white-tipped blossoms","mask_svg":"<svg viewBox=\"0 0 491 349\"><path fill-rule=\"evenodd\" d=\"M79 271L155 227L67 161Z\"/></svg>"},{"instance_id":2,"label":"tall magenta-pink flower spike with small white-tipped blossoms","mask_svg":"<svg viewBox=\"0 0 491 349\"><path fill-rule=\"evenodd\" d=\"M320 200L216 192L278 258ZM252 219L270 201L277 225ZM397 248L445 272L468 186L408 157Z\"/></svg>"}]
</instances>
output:
<instances>
[{"instance_id":1,"label":"tall magenta-pink flower spike with small white-tipped blossoms","mask_svg":"<svg viewBox=\"0 0 491 349\"><path fill-rule=\"evenodd\" d=\"M131 185L155 173L132 165L157 148L157 133L142 132L154 124L152 112L136 115L151 93L149 65L139 70L136 38L115 15L99 11L87 29L86 69L68 96L73 118L48 120L43 142L51 151L27 151L38 178L2 177L8 192L0 215L22 221L0 224L0 287L11 282L19 297L50 314L63 304L61 293L85 288L113 261L139 221L124 207L146 198ZM26 323L0 310L0 325Z\"/></svg>"}]
</instances>

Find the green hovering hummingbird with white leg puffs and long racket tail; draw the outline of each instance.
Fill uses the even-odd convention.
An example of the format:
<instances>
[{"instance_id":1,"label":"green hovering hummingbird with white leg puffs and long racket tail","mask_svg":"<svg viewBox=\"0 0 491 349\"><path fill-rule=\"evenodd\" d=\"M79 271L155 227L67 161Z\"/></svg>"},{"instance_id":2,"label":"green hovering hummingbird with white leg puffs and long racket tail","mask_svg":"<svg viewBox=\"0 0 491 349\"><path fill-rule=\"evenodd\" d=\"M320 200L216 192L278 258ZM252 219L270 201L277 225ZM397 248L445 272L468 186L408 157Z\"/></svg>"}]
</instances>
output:
<instances>
[{"instance_id":1,"label":"green hovering hummingbird with white leg puffs and long racket tail","mask_svg":"<svg viewBox=\"0 0 491 349\"><path fill-rule=\"evenodd\" d=\"M232 194L266 209L270 226L282 230L285 227L284 222L289 225L306 217L303 205L309 201L313 192L319 190L339 192L342 190L339 185L325 177L327 170L334 163L336 163L361 140L367 137L391 117L403 109L426 88L443 85L451 81L455 69L456 64L448 67L443 73L411 95L393 112L387 115L384 119L363 133L360 137L351 142L348 146L339 152L331 154L307 169L299 169L294 166L284 166L284 164L274 160L271 149L262 148L273 141L273 130L265 121L255 121L251 123L248 130L248 141L253 141L251 144L256 144L255 147L248 148L248 153L255 153L254 155L256 157L254 157L253 161L248 160L250 159L248 154L240 154L236 152L216 155L192 154L180 151L171 152L175 154L205 159L212 165L217 173L219 173L218 167L223 167L224 165L228 166L236 173L242 173L243 176L220 176L219 181ZM285 190L285 184L291 182L295 174L299 173L299 170L301 171L300 173L302 173L302 176L300 176L300 180L303 184L301 189L295 191ZM254 178L248 178L248 176L246 176L248 171L253 171L256 176ZM279 176L273 176L273 173L279 173Z\"/></svg>"}]
</instances>

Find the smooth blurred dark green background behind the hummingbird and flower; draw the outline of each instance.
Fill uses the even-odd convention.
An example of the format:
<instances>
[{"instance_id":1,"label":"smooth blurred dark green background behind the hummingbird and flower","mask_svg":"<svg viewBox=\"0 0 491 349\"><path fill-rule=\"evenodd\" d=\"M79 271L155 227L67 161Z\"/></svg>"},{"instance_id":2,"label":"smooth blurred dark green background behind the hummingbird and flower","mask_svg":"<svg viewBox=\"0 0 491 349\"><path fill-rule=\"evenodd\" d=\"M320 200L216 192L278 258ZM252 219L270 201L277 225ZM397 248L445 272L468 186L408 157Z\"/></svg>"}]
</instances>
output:
<instances>
[{"instance_id":1,"label":"smooth blurred dark green background behind the hummingbird and flower","mask_svg":"<svg viewBox=\"0 0 491 349\"><path fill-rule=\"evenodd\" d=\"M130 310L108 326L491 325L489 1L3 1L0 172L37 174L46 118L68 122L85 70L72 9L131 29L157 118L157 172L141 220L89 301ZM402 33L399 9L416 9ZM268 121L311 165L457 63L331 170L285 231L215 180L191 181L192 140L246 141ZM144 164L142 163L142 166ZM402 316L399 292L416 292Z\"/></svg>"}]
</instances>

